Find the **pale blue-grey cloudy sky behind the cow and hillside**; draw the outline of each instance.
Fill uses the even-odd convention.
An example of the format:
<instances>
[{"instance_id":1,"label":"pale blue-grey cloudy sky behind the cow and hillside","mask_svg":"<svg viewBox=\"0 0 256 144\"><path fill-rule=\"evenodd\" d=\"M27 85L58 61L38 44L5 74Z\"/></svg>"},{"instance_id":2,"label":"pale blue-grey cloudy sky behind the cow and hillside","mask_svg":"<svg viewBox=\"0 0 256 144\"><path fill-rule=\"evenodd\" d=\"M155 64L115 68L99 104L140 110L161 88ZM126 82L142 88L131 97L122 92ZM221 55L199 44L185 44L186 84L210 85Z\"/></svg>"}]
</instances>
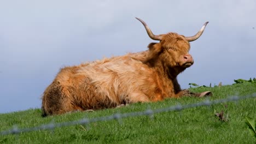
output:
<instances>
[{"instance_id":1,"label":"pale blue-grey cloudy sky behind the cow and hillside","mask_svg":"<svg viewBox=\"0 0 256 144\"><path fill-rule=\"evenodd\" d=\"M194 65L178 76L209 85L256 77L256 1L1 1L0 113L39 108L67 65L147 50L154 34L202 36L190 43Z\"/></svg>"}]
</instances>

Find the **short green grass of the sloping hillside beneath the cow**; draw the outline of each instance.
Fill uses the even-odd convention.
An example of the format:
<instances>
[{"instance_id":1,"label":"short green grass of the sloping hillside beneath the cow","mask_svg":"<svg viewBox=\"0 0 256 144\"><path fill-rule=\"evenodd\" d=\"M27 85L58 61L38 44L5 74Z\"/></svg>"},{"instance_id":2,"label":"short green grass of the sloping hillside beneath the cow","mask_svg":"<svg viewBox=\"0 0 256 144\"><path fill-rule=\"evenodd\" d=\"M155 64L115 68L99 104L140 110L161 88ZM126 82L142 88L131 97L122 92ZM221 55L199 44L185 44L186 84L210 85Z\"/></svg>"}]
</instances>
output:
<instances>
[{"instance_id":1,"label":"short green grass of the sloping hillside beneath the cow","mask_svg":"<svg viewBox=\"0 0 256 144\"><path fill-rule=\"evenodd\" d=\"M211 98L184 97L148 104L132 104L118 109L95 112L75 112L60 116L41 117L40 109L0 114L0 131L13 128L36 127L51 122L69 122L80 118L108 116L160 109L172 105L197 103L206 99L223 99L230 95L245 96L256 93L256 83L240 83L222 87L191 88L193 92L212 91ZM227 121L219 121L216 112L222 111ZM227 117L228 115L228 117ZM19 135L0 135L0 143L255 143L249 134L245 117L256 119L256 98L238 102L201 106L183 111L164 112L148 116L124 118L118 121L90 123L40 130Z\"/></svg>"}]
</instances>

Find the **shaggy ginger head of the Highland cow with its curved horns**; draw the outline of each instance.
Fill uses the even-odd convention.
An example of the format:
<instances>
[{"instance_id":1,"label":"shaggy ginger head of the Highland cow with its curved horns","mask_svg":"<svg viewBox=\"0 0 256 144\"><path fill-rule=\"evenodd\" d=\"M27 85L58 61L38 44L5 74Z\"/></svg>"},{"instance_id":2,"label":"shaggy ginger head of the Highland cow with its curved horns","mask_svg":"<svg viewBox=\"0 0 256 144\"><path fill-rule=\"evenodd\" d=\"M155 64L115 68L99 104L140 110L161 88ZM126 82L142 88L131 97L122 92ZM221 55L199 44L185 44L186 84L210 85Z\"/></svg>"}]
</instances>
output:
<instances>
[{"instance_id":1,"label":"shaggy ginger head of the Highland cow with its curved horns","mask_svg":"<svg viewBox=\"0 0 256 144\"><path fill-rule=\"evenodd\" d=\"M136 17L136 19L138 18ZM160 40L160 43L150 43L148 45L149 55L147 61L149 63L150 61L154 62L160 59L168 68L176 70L177 74L194 63L193 57L189 54L189 41L198 39L205 30L208 22L194 36L184 37L184 35L177 33L154 35L144 21L141 19L138 20L142 22L151 39Z\"/></svg>"}]
</instances>

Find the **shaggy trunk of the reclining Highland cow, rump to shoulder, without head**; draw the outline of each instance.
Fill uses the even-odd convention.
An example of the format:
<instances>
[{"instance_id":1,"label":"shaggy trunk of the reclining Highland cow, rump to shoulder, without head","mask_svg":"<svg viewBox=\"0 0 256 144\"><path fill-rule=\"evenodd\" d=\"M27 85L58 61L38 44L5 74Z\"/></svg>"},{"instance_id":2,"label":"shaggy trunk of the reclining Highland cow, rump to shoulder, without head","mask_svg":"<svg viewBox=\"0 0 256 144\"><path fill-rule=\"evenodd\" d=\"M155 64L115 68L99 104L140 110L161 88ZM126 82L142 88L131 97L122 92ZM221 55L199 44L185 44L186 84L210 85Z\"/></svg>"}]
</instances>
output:
<instances>
[{"instance_id":1,"label":"shaggy trunk of the reclining Highland cow, rump to shoulder, without head","mask_svg":"<svg viewBox=\"0 0 256 144\"><path fill-rule=\"evenodd\" d=\"M154 71L133 57L139 55L129 53L62 68L45 89L42 103L45 115L132 103L134 93L138 97L140 93L154 95L157 87L152 77Z\"/></svg>"}]
</instances>

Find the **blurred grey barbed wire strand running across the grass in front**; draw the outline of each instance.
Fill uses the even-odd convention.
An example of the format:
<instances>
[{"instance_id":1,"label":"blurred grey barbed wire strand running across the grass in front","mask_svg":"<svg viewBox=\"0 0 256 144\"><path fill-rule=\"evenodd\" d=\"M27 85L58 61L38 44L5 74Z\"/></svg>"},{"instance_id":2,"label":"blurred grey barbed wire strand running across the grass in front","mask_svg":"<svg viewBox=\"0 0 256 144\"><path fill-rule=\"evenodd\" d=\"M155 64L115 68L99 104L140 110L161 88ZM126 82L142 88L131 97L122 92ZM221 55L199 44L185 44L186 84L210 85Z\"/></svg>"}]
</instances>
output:
<instances>
[{"instance_id":1,"label":"blurred grey barbed wire strand running across the grass in front","mask_svg":"<svg viewBox=\"0 0 256 144\"><path fill-rule=\"evenodd\" d=\"M20 133L27 133L30 131L38 131L38 130L54 130L55 128L59 128L59 127L68 127L68 126L78 125L78 124L88 125L89 123L111 121L113 119L115 119L119 123L121 123L121 118L136 117L136 116L153 117L155 113L181 111L181 110L190 109L193 107L211 106L214 104L226 103L229 101L238 101L238 100L248 99L248 98L256 98L256 93L254 93L252 95L247 95L244 97L232 96L232 97L228 97L226 99L219 99L219 100L212 100L212 101L205 100L205 101L201 101L199 103L187 104L187 105L175 105L175 106L170 106L170 107L166 107L166 108L162 108L162 109L155 109L155 110L152 110L149 107L145 111L130 112L130 113L115 113L110 116L102 116L102 117L96 117L96 118L82 118L82 119L79 119L76 121L70 121L70 122L48 123L48 124L43 124L38 127L32 127L32 128L19 129L17 126L14 126L12 129L1 131L0 135L20 134Z\"/></svg>"}]
</instances>

